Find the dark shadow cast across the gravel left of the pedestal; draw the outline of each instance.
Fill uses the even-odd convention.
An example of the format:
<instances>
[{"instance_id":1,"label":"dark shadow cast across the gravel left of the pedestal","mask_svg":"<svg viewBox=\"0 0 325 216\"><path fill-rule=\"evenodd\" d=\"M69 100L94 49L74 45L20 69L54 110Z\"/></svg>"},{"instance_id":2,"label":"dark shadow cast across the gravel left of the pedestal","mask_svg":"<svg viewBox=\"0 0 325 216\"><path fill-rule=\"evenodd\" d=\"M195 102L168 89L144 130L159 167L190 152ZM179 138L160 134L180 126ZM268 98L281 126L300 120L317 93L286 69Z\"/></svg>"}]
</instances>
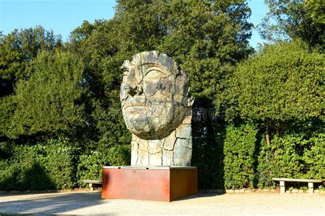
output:
<instances>
[{"instance_id":1,"label":"dark shadow cast across the gravel left of the pedestal","mask_svg":"<svg viewBox=\"0 0 325 216\"><path fill-rule=\"evenodd\" d=\"M96 206L102 202L101 193L43 194L35 199L22 198L21 200L0 202L0 215L19 213L58 214L88 206Z\"/></svg>"}]
</instances>

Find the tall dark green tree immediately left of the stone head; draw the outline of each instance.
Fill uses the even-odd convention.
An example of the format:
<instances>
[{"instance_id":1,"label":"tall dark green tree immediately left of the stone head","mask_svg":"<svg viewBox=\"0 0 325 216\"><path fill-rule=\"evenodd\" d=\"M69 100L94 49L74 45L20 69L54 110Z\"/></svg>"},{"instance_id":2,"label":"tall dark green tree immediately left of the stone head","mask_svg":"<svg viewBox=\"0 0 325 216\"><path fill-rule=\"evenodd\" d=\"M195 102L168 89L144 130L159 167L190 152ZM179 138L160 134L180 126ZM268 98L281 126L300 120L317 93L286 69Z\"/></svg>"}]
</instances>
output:
<instances>
[{"instance_id":1,"label":"tall dark green tree immediately left of the stone head","mask_svg":"<svg viewBox=\"0 0 325 216\"><path fill-rule=\"evenodd\" d=\"M120 67L132 56L121 47L119 25L115 19L84 22L71 34L67 49L82 56L87 86L84 105L88 130L84 132L88 149L107 152L109 147L130 143L119 104Z\"/></svg>"}]
</instances>

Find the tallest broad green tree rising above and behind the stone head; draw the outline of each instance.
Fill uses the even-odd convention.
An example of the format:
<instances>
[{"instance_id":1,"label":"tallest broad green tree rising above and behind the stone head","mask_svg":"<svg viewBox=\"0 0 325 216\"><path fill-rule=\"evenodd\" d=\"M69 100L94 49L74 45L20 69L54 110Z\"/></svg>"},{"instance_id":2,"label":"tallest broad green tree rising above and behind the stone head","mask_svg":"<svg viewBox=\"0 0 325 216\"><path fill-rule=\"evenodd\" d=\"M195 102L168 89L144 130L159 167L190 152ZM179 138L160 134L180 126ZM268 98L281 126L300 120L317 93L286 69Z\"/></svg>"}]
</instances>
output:
<instances>
[{"instance_id":1,"label":"tallest broad green tree rising above and behind the stone head","mask_svg":"<svg viewBox=\"0 0 325 216\"><path fill-rule=\"evenodd\" d=\"M172 56L191 76L195 97L219 99L232 65L252 52L245 1L117 2L119 51Z\"/></svg>"}]
</instances>

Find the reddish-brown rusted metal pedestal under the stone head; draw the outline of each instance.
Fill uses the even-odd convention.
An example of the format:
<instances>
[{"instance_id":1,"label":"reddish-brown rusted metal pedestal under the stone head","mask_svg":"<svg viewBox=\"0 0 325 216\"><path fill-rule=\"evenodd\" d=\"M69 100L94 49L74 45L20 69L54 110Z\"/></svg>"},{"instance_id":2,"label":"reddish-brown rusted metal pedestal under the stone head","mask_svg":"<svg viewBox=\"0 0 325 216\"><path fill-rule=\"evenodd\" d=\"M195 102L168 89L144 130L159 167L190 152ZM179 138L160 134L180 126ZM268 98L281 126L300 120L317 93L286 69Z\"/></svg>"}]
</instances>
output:
<instances>
[{"instance_id":1,"label":"reddish-brown rusted metal pedestal under the stone head","mask_svg":"<svg viewBox=\"0 0 325 216\"><path fill-rule=\"evenodd\" d=\"M102 198L170 202L197 195L196 167L103 167Z\"/></svg>"}]
</instances>

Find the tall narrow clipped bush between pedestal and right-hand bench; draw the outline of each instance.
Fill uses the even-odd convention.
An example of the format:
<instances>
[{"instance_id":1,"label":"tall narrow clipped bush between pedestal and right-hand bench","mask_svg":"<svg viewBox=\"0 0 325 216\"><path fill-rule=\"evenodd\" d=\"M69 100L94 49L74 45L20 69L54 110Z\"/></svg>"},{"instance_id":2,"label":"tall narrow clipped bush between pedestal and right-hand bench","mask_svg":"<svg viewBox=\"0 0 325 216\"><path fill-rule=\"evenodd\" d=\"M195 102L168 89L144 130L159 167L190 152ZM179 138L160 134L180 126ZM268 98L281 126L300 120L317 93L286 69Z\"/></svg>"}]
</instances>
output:
<instances>
[{"instance_id":1,"label":"tall narrow clipped bush between pedestal and right-hand bench","mask_svg":"<svg viewBox=\"0 0 325 216\"><path fill-rule=\"evenodd\" d=\"M256 128L250 123L230 125L226 129L224 142L226 188L253 187L256 134Z\"/></svg>"}]
</instances>

